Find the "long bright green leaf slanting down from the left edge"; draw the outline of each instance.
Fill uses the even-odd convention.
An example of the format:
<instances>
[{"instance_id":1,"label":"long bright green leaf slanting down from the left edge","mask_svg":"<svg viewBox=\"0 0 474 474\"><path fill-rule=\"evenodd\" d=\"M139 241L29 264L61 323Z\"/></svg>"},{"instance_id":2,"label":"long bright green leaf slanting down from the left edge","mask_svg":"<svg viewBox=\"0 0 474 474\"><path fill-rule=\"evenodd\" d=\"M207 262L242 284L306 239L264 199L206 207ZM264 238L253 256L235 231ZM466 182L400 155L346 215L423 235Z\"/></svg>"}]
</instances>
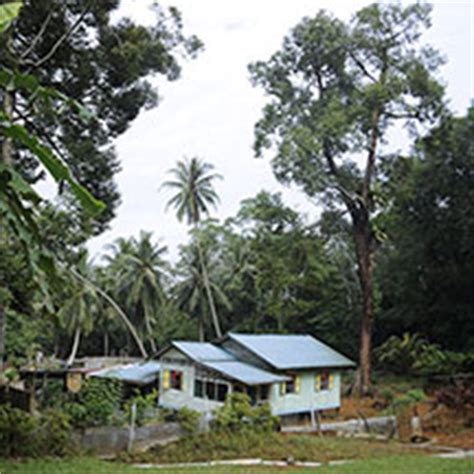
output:
<instances>
[{"instance_id":1,"label":"long bright green leaf slanting down from the left edge","mask_svg":"<svg viewBox=\"0 0 474 474\"><path fill-rule=\"evenodd\" d=\"M81 186L73 178L71 171L63 161L48 147L42 145L38 138L30 134L25 127L10 123L5 119L5 116L0 113L0 130L5 136L18 140L26 146L38 158L57 183L68 183L74 196L90 214L97 215L103 211L105 204L95 199L86 188Z\"/></svg>"}]
</instances>

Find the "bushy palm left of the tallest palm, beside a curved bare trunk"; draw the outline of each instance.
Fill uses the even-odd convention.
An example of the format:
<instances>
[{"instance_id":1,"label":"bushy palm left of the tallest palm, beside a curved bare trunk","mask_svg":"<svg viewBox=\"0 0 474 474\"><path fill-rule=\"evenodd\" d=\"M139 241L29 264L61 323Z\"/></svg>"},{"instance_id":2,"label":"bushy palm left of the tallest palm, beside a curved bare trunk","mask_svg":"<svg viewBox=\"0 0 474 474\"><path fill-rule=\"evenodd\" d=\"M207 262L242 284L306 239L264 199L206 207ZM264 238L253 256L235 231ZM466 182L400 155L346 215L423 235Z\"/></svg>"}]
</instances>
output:
<instances>
[{"instance_id":1,"label":"bushy palm left of the tallest palm, beside a curved bare trunk","mask_svg":"<svg viewBox=\"0 0 474 474\"><path fill-rule=\"evenodd\" d=\"M144 328L155 352L153 326L165 300L163 280L168 264L163 259L167 248L154 244L151 239L152 234L143 231L138 240L118 239L109 262L115 274L117 293Z\"/></svg>"}]
</instances>

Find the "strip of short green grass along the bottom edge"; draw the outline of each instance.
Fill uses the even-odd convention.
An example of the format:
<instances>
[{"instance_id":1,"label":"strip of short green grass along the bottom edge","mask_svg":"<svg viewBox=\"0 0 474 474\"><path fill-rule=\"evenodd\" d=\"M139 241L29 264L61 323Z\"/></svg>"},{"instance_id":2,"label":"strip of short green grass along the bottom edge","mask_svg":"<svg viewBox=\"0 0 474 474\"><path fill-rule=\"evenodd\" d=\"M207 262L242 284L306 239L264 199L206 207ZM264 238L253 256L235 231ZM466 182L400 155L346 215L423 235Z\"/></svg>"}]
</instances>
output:
<instances>
[{"instance_id":1,"label":"strip of short green grass along the bottom edge","mask_svg":"<svg viewBox=\"0 0 474 474\"><path fill-rule=\"evenodd\" d=\"M341 466L322 466L314 469L300 468L248 468L248 467L202 467L191 469L139 469L125 464L99 461L93 458L67 460L41 460L25 463L0 460L2 474L472 474L474 460L438 459L427 456L396 456L355 461Z\"/></svg>"}]
</instances>

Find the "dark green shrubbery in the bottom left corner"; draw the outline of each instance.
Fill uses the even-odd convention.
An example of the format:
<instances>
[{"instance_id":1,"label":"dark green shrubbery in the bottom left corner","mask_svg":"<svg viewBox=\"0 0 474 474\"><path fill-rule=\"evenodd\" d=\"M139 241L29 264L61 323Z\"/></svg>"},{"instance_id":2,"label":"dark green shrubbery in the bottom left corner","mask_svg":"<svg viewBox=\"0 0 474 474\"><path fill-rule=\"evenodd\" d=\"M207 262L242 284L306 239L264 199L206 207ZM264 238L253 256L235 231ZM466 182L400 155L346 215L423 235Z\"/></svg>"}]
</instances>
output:
<instances>
[{"instance_id":1,"label":"dark green shrubbery in the bottom left corner","mask_svg":"<svg viewBox=\"0 0 474 474\"><path fill-rule=\"evenodd\" d=\"M0 406L0 457L66 456L75 451L69 417L63 412L35 416Z\"/></svg>"}]
</instances>

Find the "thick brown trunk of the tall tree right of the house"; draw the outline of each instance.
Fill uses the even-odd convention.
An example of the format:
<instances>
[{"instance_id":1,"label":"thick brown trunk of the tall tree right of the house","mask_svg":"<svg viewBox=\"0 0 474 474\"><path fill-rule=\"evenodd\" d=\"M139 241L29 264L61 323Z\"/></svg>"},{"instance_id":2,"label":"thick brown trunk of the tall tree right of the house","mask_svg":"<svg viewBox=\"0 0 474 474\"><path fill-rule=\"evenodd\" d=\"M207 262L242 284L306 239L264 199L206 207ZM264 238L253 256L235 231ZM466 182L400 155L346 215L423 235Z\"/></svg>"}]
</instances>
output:
<instances>
[{"instance_id":1,"label":"thick brown trunk of the tall tree right of the house","mask_svg":"<svg viewBox=\"0 0 474 474\"><path fill-rule=\"evenodd\" d=\"M362 291L362 317L360 331L359 370L354 391L360 396L371 392L371 346L374 320L373 299L373 237L365 210L361 210L354 222L358 276Z\"/></svg>"}]
</instances>

